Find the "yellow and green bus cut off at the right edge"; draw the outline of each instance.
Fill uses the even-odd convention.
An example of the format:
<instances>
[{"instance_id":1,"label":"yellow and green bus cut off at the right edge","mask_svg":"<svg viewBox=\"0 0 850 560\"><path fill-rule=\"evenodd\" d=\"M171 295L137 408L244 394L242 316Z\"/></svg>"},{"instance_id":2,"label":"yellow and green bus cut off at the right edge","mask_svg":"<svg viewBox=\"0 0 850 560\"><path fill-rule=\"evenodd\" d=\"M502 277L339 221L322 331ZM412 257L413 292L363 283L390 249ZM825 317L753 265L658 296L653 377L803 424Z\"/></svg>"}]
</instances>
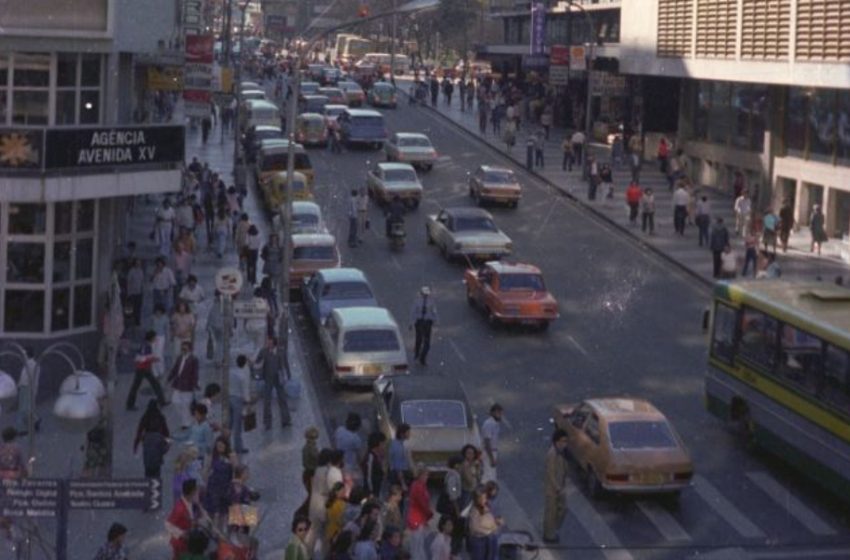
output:
<instances>
[{"instance_id":1,"label":"yellow and green bus cut off at the right edge","mask_svg":"<svg viewBox=\"0 0 850 560\"><path fill-rule=\"evenodd\" d=\"M713 300L708 410L850 501L850 290L719 282Z\"/></svg>"}]
</instances>

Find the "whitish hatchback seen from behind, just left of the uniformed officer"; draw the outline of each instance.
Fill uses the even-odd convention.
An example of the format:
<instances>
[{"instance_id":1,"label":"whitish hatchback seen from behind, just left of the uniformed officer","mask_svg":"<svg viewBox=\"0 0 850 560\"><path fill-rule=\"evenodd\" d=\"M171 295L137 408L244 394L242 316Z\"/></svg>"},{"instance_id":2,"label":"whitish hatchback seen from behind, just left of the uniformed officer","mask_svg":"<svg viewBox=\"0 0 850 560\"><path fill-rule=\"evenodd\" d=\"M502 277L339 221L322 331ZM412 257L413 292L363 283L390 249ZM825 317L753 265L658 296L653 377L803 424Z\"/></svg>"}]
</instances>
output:
<instances>
[{"instance_id":1,"label":"whitish hatchback seen from behind, just left of the uniformed officer","mask_svg":"<svg viewBox=\"0 0 850 560\"><path fill-rule=\"evenodd\" d=\"M334 309L319 327L319 342L335 386L409 373L401 331L383 307Z\"/></svg>"}]
</instances>

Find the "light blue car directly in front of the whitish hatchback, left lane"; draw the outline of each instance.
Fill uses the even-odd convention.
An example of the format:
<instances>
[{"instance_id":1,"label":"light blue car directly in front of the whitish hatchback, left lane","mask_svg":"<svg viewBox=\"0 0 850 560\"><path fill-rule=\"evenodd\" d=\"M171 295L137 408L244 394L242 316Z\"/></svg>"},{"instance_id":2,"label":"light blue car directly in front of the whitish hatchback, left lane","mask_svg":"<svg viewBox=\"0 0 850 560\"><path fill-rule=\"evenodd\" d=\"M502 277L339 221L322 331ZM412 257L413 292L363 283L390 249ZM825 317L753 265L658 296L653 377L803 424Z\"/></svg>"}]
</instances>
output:
<instances>
[{"instance_id":1,"label":"light blue car directly in front of the whitish hatchback, left lane","mask_svg":"<svg viewBox=\"0 0 850 560\"><path fill-rule=\"evenodd\" d=\"M356 268L319 270L304 281L301 297L316 325L324 323L331 311L340 307L376 307L372 286Z\"/></svg>"}]
</instances>

